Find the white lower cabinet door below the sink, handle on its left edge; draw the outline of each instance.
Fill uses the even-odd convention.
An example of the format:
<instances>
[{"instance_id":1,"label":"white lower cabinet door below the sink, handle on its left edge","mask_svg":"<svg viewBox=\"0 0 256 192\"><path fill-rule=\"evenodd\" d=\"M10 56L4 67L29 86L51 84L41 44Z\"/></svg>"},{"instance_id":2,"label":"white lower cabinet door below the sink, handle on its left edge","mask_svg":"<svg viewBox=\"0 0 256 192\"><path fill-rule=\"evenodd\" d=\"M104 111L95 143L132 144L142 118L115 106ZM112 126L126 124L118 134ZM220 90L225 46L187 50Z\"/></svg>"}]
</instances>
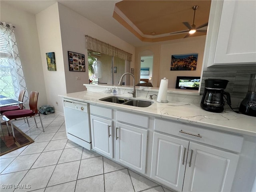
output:
<instances>
[{"instance_id":1,"label":"white lower cabinet door below the sink, handle on its left edge","mask_svg":"<svg viewBox=\"0 0 256 192\"><path fill-rule=\"evenodd\" d=\"M117 161L145 174L148 130L116 123Z\"/></svg>"}]
</instances>

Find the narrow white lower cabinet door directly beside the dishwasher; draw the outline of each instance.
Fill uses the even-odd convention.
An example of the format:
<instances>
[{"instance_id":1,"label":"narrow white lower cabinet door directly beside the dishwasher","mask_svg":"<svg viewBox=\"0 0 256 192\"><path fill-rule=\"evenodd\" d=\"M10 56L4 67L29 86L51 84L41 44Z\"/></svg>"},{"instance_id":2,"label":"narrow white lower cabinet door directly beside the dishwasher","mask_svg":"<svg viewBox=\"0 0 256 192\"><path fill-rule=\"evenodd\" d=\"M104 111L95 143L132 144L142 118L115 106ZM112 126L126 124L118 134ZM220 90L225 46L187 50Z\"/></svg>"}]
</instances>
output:
<instances>
[{"instance_id":1,"label":"narrow white lower cabinet door directly beside the dishwasher","mask_svg":"<svg viewBox=\"0 0 256 192\"><path fill-rule=\"evenodd\" d=\"M112 121L91 115L92 148L113 158Z\"/></svg>"}]
</instances>

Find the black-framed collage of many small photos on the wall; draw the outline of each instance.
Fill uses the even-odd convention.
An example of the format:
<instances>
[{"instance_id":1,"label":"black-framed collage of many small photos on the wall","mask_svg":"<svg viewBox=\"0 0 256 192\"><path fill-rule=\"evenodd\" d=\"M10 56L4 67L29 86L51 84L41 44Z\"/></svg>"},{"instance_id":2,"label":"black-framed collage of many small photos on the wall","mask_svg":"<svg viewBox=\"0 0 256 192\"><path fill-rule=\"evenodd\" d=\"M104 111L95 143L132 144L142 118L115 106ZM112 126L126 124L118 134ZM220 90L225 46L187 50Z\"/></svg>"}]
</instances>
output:
<instances>
[{"instance_id":1,"label":"black-framed collage of many small photos on the wall","mask_svg":"<svg viewBox=\"0 0 256 192\"><path fill-rule=\"evenodd\" d=\"M70 71L85 72L85 60L83 54L68 51L68 64Z\"/></svg>"}]
</instances>

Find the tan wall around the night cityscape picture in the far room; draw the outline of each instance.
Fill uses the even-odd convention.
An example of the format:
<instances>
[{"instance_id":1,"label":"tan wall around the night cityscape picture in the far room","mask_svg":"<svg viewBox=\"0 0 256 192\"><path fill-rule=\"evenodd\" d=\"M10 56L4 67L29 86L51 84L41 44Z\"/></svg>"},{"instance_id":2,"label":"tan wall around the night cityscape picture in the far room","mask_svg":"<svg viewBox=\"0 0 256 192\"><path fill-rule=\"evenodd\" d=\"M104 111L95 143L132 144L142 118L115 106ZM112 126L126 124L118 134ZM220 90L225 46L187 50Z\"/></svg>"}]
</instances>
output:
<instances>
[{"instance_id":1,"label":"tan wall around the night cityscape picture in the far room","mask_svg":"<svg viewBox=\"0 0 256 192\"><path fill-rule=\"evenodd\" d=\"M177 76L201 76L202 62L204 56L204 45L206 36L191 38L189 41L162 44L160 51L159 77L168 79L168 88L175 88ZM177 54L198 53L196 70L193 71L171 71L171 56Z\"/></svg>"}]
</instances>

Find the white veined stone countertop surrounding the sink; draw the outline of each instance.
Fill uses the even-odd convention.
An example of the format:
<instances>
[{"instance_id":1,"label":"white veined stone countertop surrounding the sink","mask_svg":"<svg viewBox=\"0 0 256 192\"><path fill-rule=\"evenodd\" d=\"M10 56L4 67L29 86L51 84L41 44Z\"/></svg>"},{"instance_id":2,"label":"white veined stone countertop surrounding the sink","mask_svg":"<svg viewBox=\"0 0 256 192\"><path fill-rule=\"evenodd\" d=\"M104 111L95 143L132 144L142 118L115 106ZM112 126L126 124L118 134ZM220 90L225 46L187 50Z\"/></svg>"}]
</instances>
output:
<instances>
[{"instance_id":1,"label":"white veined stone countertop surrounding the sink","mask_svg":"<svg viewBox=\"0 0 256 192\"><path fill-rule=\"evenodd\" d=\"M169 101L168 103L159 103L156 99L150 100L153 101L154 104L149 107L135 107L101 101L99 100L100 98L112 96L112 94L92 91L75 92L59 96L81 102L88 102L90 104L96 104L98 106L111 107L151 115L158 118L175 120L195 126L206 126L208 128L222 130L224 132L256 136L256 118L244 114L237 114L228 108L222 113L213 113L202 110L202 108L200 108L200 104L172 101ZM122 97L120 94L118 94L118 96ZM129 98L127 95L123 95L123 97ZM144 100L144 98L140 97L135 99Z\"/></svg>"}]
</instances>

